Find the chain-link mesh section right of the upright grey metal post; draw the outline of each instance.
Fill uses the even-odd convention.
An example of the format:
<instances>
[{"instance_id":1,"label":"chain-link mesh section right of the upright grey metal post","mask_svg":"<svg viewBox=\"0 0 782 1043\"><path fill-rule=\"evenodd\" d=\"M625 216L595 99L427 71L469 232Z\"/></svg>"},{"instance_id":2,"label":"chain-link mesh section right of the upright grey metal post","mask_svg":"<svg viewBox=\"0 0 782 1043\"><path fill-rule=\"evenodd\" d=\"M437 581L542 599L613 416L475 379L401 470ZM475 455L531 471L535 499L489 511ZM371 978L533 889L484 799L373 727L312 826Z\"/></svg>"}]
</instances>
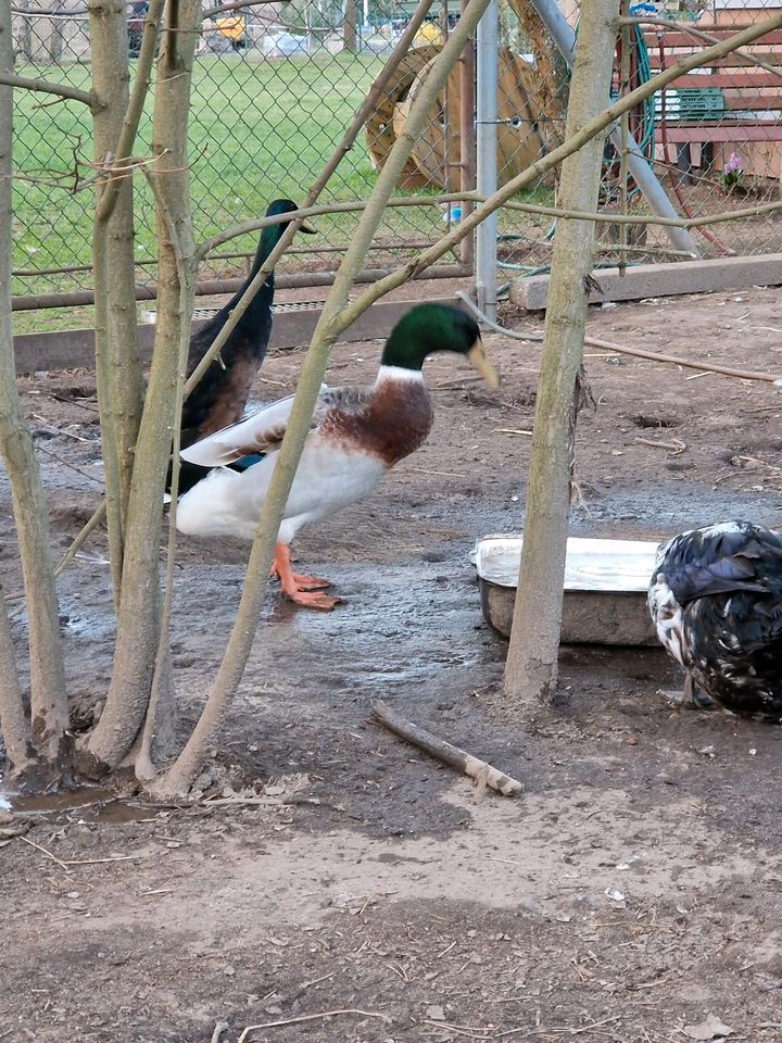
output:
<instances>
[{"instance_id":1,"label":"chain-link mesh section right of the upright grey metal post","mask_svg":"<svg viewBox=\"0 0 782 1043\"><path fill-rule=\"evenodd\" d=\"M559 11L578 33L579 4L560 0ZM639 24L629 25L617 41L613 96L626 93L681 58L778 11L779 4L769 0L666 0L625 5L623 13ZM540 155L544 146L551 148L562 140L569 76L525 0L507 0L501 13L501 34L497 148L499 160L504 162L502 181L510 176L515 163L524 164L529 154ZM622 48L627 50L625 63ZM680 216L705 217L779 200L781 55L782 33L768 33L744 53L680 77L630 113L628 131ZM507 70L519 59L524 71L514 76ZM627 74L625 83L622 73ZM515 153L507 130L507 121L514 117L518 128ZM622 212L639 217L652 213L631 176L622 190L625 168L619 151L616 141L606 144L600 202L606 221L597 226L600 263L677 257L681 251L672 247L661 227L639 222L625 225L622 231L619 223L611 222L613 215ZM543 205L553 205L555 198L555 176L519 197ZM507 278L546 272L555 235L556 221L551 217L505 211L500 222L501 273ZM782 251L782 212L693 229L692 235L703 257L777 253Z\"/></svg>"}]
</instances>

